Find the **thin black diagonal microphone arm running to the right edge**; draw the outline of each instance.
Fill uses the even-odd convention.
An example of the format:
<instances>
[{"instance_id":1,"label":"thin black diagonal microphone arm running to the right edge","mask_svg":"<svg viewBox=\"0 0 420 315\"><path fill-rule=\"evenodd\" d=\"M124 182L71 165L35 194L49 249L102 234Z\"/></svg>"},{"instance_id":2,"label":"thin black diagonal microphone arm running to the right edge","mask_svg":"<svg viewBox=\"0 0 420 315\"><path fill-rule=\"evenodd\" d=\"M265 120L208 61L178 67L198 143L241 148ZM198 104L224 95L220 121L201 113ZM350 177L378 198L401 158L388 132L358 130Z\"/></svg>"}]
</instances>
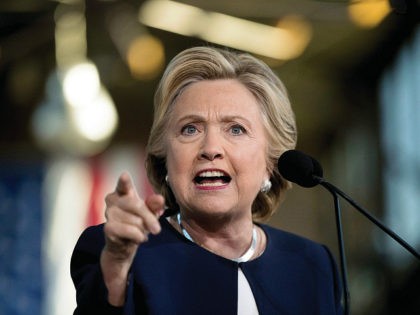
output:
<instances>
[{"instance_id":1,"label":"thin black diagonal microphone arm running to the right edge","mask_svg":"<svg viewBox=\"0 0 420 315\"><path fill-rule=\"evenodd\" d=\"M356 208L356 210L358 210L361 214L363 214L366 218L368 218L373 224L378 226L382 231L384 231L386 234L388 234L390 237L392 237L398 244L400 244L402 247L404 247L414 257L416 257L418 260L420 260L420 254L413 247L411 247L406 241L404 241L401 237L399 237L390 228L385 226L385 224L383 224L381 221L379 221L377 218L375 218L373 215L371 215L368 211L366 211L361 206L359 206L353 199L351 199L349 196L347 196L344 192L342 192L340 189L338 189L333 184L327 182L322 177L313 175L313 178L320 185L327 188L330 192L334 192L336 194L339 194L341 197L343 197L345 200L347 200L354 208Z\"/></svg>"}]
</instances>

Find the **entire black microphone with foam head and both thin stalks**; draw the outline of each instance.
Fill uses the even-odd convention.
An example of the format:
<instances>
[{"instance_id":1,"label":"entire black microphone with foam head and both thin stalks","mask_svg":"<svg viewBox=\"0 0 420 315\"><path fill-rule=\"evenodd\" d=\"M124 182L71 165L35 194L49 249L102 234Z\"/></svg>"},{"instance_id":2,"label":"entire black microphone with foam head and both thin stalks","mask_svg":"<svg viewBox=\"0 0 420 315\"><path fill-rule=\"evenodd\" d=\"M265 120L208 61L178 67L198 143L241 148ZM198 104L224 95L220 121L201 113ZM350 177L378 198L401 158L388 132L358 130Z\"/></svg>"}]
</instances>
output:
<instances>
[{"instance_id":1,"label":"entire black microphone with foam head and both thin stalks","mask_svg":"<svg viewBox=\"0 0 420 315\"><path fill-rule=\"evenodd\" d=\"M387 233L392 237L396 242L398 242L402 247L409 251L414 257L420 260L420 254L411 247L407 242L405 242L400 236L395 232L385 226L381 221L371 215L367 210L363 209L358 205L353 199L347 196L344 192L338 189L333 184L327 182L323 178L323 170L321 164L315 160L313 157L298 151L298 150L288 150L284 152L278 160L278 170L280 174L293 183L296 183L302 187L311 188L316 185L321 185L326 188L334 198L335 205L335 215L336 215L336 225L337 225L337 236L338 236L338 245L340 253L340 262L341 262L341 276L343 281L343 293L344 293L344 314L349 314L349 304L350 304L350 293L347 285L347 268L346 268L346 258L344 252L344 241L341 225L341 210L338 195L343 197L347 202L349 202L356 210L363 214L367 219L369 219L373 224L378 226L382 231Z\"/></svg>"}]
</instances>

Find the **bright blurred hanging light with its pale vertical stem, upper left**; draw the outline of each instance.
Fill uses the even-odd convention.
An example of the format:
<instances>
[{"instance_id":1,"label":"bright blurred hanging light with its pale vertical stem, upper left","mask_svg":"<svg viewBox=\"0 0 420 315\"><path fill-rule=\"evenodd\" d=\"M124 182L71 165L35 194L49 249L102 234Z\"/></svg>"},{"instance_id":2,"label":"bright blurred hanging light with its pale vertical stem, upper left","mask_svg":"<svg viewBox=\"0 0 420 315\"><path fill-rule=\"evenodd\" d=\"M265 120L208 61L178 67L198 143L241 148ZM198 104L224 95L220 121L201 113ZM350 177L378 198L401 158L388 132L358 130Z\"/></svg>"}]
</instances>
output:
<instances>
[{"instance_id":1,"label":"bright blurred hanging light with its pale vertical stem, upper left","mask_svg":"<svg viewBox=\"0 0 420 315\"><path fill-rule=\"evenodd\" d=\"M65 4L64 4L65 3ZM104 150L116 131L115 105L87 57L83 0L65 1L55 10L57 71L47 98L34 115L34 135L50 150L93 155Z\"/></svg>"}]
</instances>

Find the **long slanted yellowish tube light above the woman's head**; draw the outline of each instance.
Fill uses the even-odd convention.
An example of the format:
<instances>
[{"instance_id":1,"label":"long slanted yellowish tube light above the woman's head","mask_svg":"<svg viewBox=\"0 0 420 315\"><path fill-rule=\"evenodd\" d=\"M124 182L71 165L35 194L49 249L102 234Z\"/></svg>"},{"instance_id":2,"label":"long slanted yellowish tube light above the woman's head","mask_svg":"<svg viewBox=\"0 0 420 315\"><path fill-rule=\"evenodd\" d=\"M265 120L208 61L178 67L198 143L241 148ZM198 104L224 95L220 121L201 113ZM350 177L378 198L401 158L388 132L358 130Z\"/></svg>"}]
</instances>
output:
<instances>
[{"instance_id":1,"label":"long slanted yellowish tube light above the woman's head","mask_svg":"<svg viewBox=\"0 0 420 315\"><path fill-rule=\"evenodd\" d=\"M310 25L303 19L300 32L294 32L290 27L273 27L170 0L146 1L139 20L150 27L279 60L299 56L311 37Z\"/></svg>"}]
</instances>

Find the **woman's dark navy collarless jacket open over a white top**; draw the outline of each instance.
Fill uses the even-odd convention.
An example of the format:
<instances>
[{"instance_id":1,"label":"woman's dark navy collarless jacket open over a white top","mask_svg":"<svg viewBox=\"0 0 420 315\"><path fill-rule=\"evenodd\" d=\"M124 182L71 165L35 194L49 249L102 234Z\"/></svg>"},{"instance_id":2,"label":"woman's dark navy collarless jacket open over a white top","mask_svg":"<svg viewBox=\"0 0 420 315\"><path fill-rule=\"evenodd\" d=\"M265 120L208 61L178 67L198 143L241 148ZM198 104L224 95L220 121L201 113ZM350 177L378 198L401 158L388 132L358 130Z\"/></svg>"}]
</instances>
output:
<instances>
[{"instance_id":1,"label":"woman's dark navy collarless jacket open over a white top","mask_svg":"<svg viewBox=\"0 0 420 315\"><path fill-rule=\"evenodd\" d=\"M77 290L74 314L236 315L238 267L260 315L342 314L341 286L329 250L267 225L267 247L257 259L236 263L185 239L166 219L134 259L123 308L107 303L99 257L103 226L86 229L71 260Z\"/></svg>"}]
</instances>

